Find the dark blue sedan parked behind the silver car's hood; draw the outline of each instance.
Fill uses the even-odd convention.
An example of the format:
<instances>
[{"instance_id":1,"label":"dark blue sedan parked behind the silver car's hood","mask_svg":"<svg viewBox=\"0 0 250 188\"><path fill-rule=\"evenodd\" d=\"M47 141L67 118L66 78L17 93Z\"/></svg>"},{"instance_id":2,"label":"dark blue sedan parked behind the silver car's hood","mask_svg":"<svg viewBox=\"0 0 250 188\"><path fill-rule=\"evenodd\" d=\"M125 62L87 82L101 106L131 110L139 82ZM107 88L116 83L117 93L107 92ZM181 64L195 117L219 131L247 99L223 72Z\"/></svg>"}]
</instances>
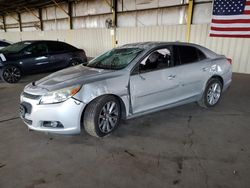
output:
<instances>
[{"instance_id":1,"label":"dark blue sedan parked behind the silver car's hood","mask_svg":"<svg viewBox=\"0 0 250 188\"><path fill-rule=\"evenodd\" d=\"M84 50L60 41L22 41L0 50L0 74L8 83L18 82L24 74L60 70L80 63L87 63Z\"/></svg>"}]
</instances>

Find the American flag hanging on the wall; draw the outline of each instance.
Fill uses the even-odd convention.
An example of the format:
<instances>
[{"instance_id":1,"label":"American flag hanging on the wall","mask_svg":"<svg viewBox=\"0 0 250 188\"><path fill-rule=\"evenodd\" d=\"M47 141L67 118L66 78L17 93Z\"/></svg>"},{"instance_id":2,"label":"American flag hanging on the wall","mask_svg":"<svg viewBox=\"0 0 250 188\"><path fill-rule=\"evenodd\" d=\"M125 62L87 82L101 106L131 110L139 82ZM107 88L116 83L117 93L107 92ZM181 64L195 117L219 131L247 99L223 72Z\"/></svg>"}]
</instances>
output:
<instances>
[{"instance_id":1,"label":"American flag hanging on the wall","mask_svg":"<svg viewBox=\"0 0 250 188\"><path fill-rule=\"evenodd\" d=\"M210 36L250 38L250 0L214 0Z\"/></svg>"}]
</instances>

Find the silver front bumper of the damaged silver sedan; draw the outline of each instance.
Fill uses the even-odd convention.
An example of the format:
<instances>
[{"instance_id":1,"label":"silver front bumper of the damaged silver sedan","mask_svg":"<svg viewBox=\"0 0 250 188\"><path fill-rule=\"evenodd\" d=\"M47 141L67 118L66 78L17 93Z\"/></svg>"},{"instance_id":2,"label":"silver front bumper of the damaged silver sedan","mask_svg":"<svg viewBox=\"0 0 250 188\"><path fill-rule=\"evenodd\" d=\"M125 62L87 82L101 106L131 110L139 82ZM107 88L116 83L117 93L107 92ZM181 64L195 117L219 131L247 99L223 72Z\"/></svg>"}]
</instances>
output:
<instances>
[{"instance_id":1,"label":"silver front bumper of the damaged silver sedan","mask_svg":"<svg viewBox=\"0 0 250 188\"><path fill-rule=\"evenodd\" d=\"M56 134L79 134L85 104L70 98L62 103L39 105L38 100L21 96L21 104L30 104L21 118L29 129ZM63 127L44 127L44 122L60 122Z\"/></svg>"}]
</instances>

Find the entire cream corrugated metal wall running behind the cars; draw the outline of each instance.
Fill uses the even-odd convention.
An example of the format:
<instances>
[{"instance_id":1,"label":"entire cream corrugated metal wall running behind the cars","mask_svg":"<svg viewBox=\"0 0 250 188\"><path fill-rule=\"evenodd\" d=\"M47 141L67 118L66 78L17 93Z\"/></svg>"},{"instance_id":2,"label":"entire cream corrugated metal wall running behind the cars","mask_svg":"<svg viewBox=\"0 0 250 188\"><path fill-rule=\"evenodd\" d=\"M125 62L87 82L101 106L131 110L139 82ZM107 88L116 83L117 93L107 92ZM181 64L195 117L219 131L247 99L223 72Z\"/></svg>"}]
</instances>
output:
<instances>
[{"instance_id":1,"label":"entire cream corrugated metal wall running behind the cars","mask_svg":"<svg viewBox=\"0 0 250 188\"><path fill-rule=\"evenodd\" d=\"M118 45L143 41L185 41L185 25L117 28ZM197 43L233 59L233 71L250 73L250 39L211 38L209 24L192 25L190 42ZM68 42L86 50L94 57L112 48L107 29L79 29L58 31L7 32L0 38L20 40L51 39Z\"/></svg>"}]
</instances>

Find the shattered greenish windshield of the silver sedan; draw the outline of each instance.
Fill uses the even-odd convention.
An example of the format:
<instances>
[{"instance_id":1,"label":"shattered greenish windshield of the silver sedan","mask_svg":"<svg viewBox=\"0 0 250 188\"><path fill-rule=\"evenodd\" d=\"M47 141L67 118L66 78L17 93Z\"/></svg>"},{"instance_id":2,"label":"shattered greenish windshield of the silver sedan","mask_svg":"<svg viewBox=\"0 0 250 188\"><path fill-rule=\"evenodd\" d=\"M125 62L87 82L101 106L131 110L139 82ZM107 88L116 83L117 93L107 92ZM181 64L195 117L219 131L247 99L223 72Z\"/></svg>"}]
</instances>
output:
<instances>
[{"instance_id":1,"label":"shattered greenish windshield of the silver sedan","mask_svg":"<svg viewBox=\"0 0 250 188\"><path fill-rule=\"evenodd\" d=\"M112 49L88 63L88 67L118 70L125 68L142 51L140 48Z\"/></svg>"}]
</instances>

